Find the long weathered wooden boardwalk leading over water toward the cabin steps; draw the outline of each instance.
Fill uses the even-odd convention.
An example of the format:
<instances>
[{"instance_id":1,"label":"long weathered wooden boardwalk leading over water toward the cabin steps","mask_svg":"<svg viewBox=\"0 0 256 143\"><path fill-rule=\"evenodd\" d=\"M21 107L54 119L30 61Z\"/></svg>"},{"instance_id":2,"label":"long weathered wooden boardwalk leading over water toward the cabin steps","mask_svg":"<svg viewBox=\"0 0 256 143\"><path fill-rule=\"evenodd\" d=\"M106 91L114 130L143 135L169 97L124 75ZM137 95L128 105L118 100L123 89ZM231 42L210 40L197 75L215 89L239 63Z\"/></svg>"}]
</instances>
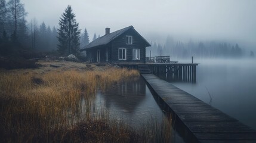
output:
<instances>
[{"instance_id":1,"label":"long weathered wooden boardwalk leading over water toward the cabin steps","mask_svg":"<svg viewBox=\"0 0 256 143\"><path fill-rule=\"evenodd\" d=\"M141 76L186 130L188 142L256 142L256 131L233 117L153 74Z\"/></svg>"}]
</instances>

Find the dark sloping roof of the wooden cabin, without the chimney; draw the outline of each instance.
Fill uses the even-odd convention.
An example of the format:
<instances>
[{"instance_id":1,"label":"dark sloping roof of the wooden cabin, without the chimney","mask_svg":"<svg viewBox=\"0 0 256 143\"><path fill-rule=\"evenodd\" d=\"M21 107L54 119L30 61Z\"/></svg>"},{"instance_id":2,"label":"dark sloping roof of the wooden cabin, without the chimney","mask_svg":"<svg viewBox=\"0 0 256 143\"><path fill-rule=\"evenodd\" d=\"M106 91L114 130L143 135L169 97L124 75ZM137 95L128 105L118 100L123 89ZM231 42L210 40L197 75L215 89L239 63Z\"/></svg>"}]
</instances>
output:
<instances>
[{"instance_id":1,"label":"dark sloping roof of the wooden cabin, without the chimney","mask_svg":"<svg viewBox=\"0 0 256 143\"><path fill-rule=\"evenodd\" d=\"M124 32L127 32L127 30L133 29L145 42L146 46L151 46L149 42L146 41L146 39L143 38L135 29L133 26L125 27L124 29L117 30L115 32L109 33L107 35L101 36L100 38L95 39L94 41L90 42L88 45L84 46L84 48L81 49L81 51L84 51L88 48L93 48L95 46L101 46L101 45L107 45L109 42L113 41L113 39L118 38L118 36L122 35Z\"/></svg>"}]
</instances>

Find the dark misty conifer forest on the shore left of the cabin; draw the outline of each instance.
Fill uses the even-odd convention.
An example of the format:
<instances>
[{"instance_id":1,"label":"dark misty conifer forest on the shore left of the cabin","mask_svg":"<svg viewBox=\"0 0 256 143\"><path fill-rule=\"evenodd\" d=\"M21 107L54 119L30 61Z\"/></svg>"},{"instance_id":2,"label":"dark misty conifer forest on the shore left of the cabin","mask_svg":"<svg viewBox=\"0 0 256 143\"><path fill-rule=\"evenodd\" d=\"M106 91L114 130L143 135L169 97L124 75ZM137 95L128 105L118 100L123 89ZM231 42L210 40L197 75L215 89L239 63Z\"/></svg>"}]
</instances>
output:
<instances>
[{"instance_id":1,"label":"dark misty conifer forest on the shore left of the cabin","mask_svg":"<svg viewBox=\"0 0 256 143\"><path fill-rule=\"evenodd\" d=\"M27 20L26 15L27 12L24 9L24 4L21 4L19 0L0 1L1 55L15 55L25 58L31 58L32 55L40 55L35 53L47 52L58 55L78 55L79 48L90 42L87 29L84 28L81 32L70 5L66 8L63 15L61 15L57 28L55 26L49 26L44 21L40 24L36 18ZM70 21L71 27L69 27L68 31L65 31L67 23L63 23L63 21L69 17L72 17L72 21ZM96 38L96 34L94 33L94 39ZM76 51L65 53L64 51L67 49L65 46L68 44L64 43L64 41L72 41L70 43L73 43L73 45L69 46L76 48Z\"/></svg>"}]
</instances>

